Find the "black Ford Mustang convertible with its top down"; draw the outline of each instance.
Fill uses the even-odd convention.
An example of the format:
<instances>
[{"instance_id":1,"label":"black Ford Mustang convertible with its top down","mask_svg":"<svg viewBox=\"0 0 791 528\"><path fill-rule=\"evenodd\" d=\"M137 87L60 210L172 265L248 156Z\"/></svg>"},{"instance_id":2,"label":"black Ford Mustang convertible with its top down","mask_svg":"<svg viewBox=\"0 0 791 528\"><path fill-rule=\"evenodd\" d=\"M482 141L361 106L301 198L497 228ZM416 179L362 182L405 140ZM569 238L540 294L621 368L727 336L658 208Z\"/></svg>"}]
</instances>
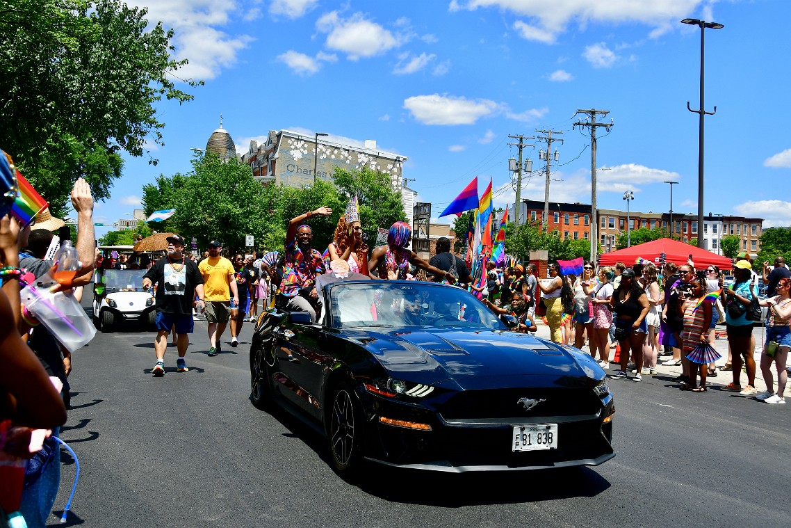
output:
<instances>
[{"instance_id":1,"label":"black Ford Mustang convertible with its top down","mask_svg":"<svg viewBox=\"0 0 791 528\"><path fill-rule=\"evenodd\" d=\"M319 323L272 310L250 351L252 401L325 431L335 469L363 459L464 472L599 465L615 405L591 356L509 331L457 287L325 286Z\"/></svg>"}]
</instances>

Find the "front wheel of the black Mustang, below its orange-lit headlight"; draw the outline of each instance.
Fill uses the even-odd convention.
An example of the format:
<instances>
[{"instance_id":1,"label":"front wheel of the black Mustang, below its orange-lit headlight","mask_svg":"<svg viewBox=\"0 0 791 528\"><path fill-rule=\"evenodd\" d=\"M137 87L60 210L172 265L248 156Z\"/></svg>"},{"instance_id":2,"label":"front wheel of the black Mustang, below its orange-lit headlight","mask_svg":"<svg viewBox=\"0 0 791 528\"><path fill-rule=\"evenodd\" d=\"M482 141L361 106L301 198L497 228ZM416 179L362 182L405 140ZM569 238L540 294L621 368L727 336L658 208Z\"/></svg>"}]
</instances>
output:
<instances>
[{"instance_id":1,"label":"front wheel of the black Mustang, below its orange-lit headlight","mask_svg":"<svg viewBox=\"0 0 791 528\"><path fill-rule=\"evenodd\" d=\"M343 477L353 477L362 464L365 419L349 383L335 386L327 399L327 439L332 465Z\"/></svg>"}]
</instances>

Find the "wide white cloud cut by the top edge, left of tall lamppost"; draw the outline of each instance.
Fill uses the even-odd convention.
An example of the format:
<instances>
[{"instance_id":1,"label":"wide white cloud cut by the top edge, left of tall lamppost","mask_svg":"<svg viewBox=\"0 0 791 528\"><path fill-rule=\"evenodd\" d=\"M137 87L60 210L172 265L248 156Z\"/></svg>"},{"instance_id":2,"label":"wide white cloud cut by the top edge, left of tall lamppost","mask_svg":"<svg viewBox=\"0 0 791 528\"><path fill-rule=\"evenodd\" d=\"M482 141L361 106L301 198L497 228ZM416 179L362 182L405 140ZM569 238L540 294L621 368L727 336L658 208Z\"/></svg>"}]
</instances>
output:
<instances>
[{"instance_id":1,"label":"wide white cloud cut by the top edge, left of tall lamppost","mask_svg":"<svg viewBox=\"0 0 791 528\"><path fill-rule=\"evenodd\" d=\"M698 6L703 6L705 13L711 3L708 0L452 0L448 10L454 13L463 9L499 9L525 17L531 24L517 21L513 25L517 32L526 39L553 44L572 22L580 28L589 22L638 22L653 28L652 36L659 36L671 23L677 26L681 18L694 13Z\"/></svg>"}]
</instances>

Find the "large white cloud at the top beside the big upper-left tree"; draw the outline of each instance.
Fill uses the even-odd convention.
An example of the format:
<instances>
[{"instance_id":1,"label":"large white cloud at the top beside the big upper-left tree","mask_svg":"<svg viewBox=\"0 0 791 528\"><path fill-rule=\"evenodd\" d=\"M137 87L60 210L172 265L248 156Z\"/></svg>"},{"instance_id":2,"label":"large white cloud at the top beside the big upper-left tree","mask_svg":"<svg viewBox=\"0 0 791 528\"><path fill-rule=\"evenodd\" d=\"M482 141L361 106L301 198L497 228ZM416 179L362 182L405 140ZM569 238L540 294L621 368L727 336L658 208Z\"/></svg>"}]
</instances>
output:
<instances>
[{"instance_id":1,"label":"large white cloud at the top beside the big upper-left tree","mask_svg":"<svg viewBox=\"0 0 791 528\"><path fill-rule=\"evenodd\" d=\"M253 40L252 36L229 35L221 30L237 18L255 14L249 6L240 6L233 0L128 0L127 4L146 7L146 18L151 25L162 21L165 28L175 30L174 58L190 61L176 70L174 75L178 78L207 80L217 77L221 70L237 63L237 53Z\"/></svg>"}]
</instances>

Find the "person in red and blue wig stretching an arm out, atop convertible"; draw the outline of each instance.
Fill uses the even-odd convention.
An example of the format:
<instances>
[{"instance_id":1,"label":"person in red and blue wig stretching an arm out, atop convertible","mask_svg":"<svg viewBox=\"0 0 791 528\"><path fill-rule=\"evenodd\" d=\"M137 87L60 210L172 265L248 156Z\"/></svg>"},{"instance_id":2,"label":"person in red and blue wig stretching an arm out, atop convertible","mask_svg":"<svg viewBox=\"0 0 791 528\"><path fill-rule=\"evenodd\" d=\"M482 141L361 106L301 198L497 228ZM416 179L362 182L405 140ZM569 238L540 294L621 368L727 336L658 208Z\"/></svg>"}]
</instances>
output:
<instances>
[{"instance_id":1,"label":"person in red and blue wig stretching an arm out, atop convertible","mask_svg":"<svg viewBox=\"0 0 791 528\"><path fill-rule=\"evenodd\" d=\"M372 279L384 280L405 280L409 266L412 264L416 268L426 270L440 280L448 279L451 283L455 281L453 275L436 268L423 260L411 249L407 249L407 244L412 236L412 229L407 222L395 222L390 226L388 232L388 245L382 245L373 250L373 255L369 261L370 277ZM373 275L376 271L377 275Z\"/></svg>"}]
</instances>

